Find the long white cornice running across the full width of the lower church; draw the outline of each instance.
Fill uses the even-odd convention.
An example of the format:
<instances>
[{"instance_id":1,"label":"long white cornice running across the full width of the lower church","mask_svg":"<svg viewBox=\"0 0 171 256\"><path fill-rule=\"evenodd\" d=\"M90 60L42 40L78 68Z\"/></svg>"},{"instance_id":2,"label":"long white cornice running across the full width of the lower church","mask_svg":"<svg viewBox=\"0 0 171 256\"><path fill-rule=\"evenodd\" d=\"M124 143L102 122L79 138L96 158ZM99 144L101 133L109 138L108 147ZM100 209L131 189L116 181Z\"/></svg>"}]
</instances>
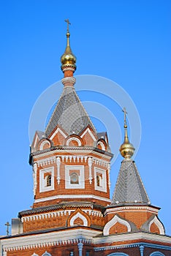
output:
<instances>
[{"instance_id":1,"label":"long white cornice running across the full width of the lower church","mask_svg":"<svg viewBox=\"0 0 171 256\"><path fill-rule=\"evenodd\" d=\"M5 252L11 250L24 250L43 246L58 246L61 244L91 244L95 251L112 249L123 246L157 246L171 251L171 237L153 233L123 233L110 236L102 236L102 231L92 227L67 227L56 230L44 230L32 233L23 233L16 236L0 238L1 246Z\"/></svg>"}]
</instances>

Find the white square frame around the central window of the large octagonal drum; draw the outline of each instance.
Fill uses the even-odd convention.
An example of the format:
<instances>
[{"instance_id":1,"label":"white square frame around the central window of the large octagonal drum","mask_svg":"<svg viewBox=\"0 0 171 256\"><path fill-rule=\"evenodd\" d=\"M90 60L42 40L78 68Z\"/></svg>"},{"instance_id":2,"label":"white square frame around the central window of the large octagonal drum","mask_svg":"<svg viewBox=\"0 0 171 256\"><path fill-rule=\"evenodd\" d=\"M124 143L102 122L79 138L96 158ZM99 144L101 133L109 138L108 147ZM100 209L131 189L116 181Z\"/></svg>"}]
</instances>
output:
<instances>
[{"instance_id":1,"label":"white square frame around the central window of the large octagonal drum","mask_svg":"<svg viewBox=\"0 0 171 256\"><path fill-rule=\"evenodd\" d=\"M71 184L69 172L72 170L77 170L80 172L78 175L78 184ZM85 189L84 165L66 165L65 166L65 188L66 189Z\"/></svg>"}]
</instances>

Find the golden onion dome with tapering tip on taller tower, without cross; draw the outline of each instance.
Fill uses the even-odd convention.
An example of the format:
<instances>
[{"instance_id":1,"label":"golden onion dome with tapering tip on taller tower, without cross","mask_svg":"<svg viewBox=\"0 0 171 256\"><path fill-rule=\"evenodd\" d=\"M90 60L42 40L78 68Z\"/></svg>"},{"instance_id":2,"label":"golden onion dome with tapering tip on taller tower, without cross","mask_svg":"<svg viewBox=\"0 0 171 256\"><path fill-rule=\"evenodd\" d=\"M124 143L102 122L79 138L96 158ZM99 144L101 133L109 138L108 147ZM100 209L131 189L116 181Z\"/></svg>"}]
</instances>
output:
<instances>
[{"instance_id":1,"label":"golden onion dome with tapering tip on taller tower, without cross","mask_svg":"<svg viewBox=\"0 0 171 256\"><path fill-rule=\"evenodd\" d=\"M76 62L76 57L72 53L72 50L69 45L69 37L70 37L70 34L69 34L69 32L67 32L66 33L66 39L67 39L66 49L65 49L64 54L61 56L61 64L62 65L64 65L64 64L75 65L75 62Z\"/></svg>"}]
</instances>

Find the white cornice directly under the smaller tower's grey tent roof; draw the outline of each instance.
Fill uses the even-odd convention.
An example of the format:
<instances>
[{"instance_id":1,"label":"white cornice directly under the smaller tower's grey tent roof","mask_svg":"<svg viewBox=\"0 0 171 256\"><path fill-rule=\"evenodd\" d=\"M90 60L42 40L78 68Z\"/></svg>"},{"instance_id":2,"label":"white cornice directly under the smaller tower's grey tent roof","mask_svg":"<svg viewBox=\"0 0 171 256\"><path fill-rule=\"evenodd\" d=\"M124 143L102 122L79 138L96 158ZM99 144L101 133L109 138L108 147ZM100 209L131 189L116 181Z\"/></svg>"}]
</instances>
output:
<instances>
[{"instance_id":1,"label":"white cornice directly under the smaller tower's grey tent roof","mask_svg":"<svg viewBox=\"0 0 171 256\"><path fill-rule=\"evenodd\" d=\"M123 211L149 211L151 214L157 214L159 209L152 208L151 206L118 206L118 208L108 208L106 211L104 211L104 216L107 213L110 214L116 214L118 212L123 212Z\"/></svg>"}]
</instances>

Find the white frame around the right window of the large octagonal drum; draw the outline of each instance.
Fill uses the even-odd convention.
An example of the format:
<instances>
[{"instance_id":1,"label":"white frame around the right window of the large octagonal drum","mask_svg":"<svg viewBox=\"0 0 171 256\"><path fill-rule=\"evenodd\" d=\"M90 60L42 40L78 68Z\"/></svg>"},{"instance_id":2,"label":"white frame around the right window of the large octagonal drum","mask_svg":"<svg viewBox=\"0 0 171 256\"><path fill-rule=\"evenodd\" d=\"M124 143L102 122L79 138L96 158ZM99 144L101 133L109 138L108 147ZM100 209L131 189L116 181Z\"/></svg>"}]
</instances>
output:
<instances>
[{"instance_id":1,"label":"white frame around the right window of the large octagonal drum","mask_svg":"<svg viewBox=\"0 0 171 256\"><path fill-rule=\"evenodd\" d=\"M97 173L100 173L102 178L100 180L99 186L97 186ZM107 192L107 184L106 184L106 170L99 169L97 167L94 167L94 189L102 192Z\"/></svg>"}]
</instances>

